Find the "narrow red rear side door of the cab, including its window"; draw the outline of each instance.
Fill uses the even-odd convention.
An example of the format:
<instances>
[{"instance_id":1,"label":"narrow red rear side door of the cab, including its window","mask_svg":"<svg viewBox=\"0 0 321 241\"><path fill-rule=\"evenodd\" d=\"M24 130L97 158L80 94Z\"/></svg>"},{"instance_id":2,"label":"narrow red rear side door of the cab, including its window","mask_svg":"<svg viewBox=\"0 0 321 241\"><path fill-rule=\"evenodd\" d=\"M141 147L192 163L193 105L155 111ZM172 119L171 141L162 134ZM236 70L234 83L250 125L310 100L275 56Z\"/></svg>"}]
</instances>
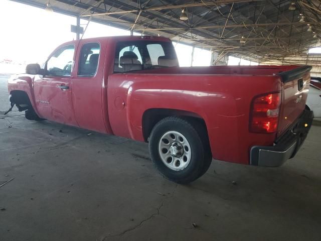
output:
<instances>
[{"instance_id":1,"label":"narrow red rear side door of the cab, including its window","mask_svg":"<svg viewBox=\"0 0 321 241\"><path fill-rule=\"evenodd\" d=\"M103 104L103 82L106 42L82 40L76 54L75 70L72 79L73 108L79 127L102 133L106 130ZM106 110L107 111L107 110Z\"/></svg>"}]
</instances>

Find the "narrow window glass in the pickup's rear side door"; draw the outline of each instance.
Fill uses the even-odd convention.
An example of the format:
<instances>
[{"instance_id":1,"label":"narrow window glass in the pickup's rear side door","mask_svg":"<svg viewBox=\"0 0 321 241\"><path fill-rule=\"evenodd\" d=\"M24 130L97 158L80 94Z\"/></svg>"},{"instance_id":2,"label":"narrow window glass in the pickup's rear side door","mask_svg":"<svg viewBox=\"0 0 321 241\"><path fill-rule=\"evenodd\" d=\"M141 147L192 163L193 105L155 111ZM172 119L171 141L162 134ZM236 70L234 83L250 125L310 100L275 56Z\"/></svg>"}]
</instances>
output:
<instances>
[{"instance_id":1,"label":"narrow window glass in the pickup's rear side door","mask_svg":"<svg viewBox=\"0 0 321 241\"><path fill-rule=\"evenodd\" d=\"M99 43L89 43L82 46L79 58L78 76L94 76L96 74L99 53Z\"/></svg>"}]
</instances>

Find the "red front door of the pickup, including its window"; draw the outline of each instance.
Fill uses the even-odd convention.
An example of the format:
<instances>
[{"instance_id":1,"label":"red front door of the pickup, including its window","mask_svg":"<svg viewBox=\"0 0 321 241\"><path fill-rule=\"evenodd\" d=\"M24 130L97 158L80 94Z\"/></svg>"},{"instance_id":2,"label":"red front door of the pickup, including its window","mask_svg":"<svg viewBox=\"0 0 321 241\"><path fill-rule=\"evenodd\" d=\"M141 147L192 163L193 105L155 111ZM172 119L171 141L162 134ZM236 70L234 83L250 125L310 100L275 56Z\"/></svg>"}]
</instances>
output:
<instances>
[{"instance_id":1,"label":"red front door of the pickup, including its window","mask_svg":"<svg viewBox=\"0 0 321 241\"><path fill-rule=\"evenodd\" d=\"M78 126L72 104L72 67L75 46L57 49L45 64L46 75L35 78L36 107L41 117Z\"/></svg>"}]
</instances>

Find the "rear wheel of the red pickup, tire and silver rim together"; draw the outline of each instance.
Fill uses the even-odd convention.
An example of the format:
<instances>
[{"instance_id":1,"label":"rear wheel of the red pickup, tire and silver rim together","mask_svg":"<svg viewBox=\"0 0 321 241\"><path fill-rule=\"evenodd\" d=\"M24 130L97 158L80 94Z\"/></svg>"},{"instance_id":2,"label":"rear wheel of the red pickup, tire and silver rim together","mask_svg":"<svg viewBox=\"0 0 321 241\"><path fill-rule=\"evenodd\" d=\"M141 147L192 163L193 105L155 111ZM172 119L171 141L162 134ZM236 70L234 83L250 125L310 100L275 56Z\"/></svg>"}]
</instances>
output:
<instances>
[{"instance_id":1,"label":"rear wheel of the red pickup, tire and silver rim together","mask_svg":"<svg viewBox=\"0 0 321 241\"><path fill-rule=\"evenodd\" d=\"M168 179L182 184L192 182L207 171L212 160L202 137L185 119L164 118L150 134L151 159Z\"/></svg>"}]
</instances>

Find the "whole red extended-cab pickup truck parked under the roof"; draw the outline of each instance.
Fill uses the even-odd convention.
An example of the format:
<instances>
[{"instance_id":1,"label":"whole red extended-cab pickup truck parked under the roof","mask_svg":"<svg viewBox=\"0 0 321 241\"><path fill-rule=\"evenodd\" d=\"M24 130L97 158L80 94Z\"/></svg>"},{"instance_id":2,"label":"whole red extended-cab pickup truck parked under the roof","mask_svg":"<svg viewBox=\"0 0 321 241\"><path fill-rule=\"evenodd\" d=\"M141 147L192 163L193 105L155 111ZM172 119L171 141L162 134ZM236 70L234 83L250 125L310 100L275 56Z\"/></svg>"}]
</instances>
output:
<instances>
[{"instance_id":1,"label":"whole red extended-cab pickup truck parked under the roof","mask_svg":"<svg viewBox=\"0 0 321 241\"><path fill-rule=\"evenodd\" d=\"M8 80L28 119L148 142L168 179L189 183L214 159L276 167L312 122L309 66L179 67L162 37L106 37L59 46Z\"/></svg>"}]
</instances>

